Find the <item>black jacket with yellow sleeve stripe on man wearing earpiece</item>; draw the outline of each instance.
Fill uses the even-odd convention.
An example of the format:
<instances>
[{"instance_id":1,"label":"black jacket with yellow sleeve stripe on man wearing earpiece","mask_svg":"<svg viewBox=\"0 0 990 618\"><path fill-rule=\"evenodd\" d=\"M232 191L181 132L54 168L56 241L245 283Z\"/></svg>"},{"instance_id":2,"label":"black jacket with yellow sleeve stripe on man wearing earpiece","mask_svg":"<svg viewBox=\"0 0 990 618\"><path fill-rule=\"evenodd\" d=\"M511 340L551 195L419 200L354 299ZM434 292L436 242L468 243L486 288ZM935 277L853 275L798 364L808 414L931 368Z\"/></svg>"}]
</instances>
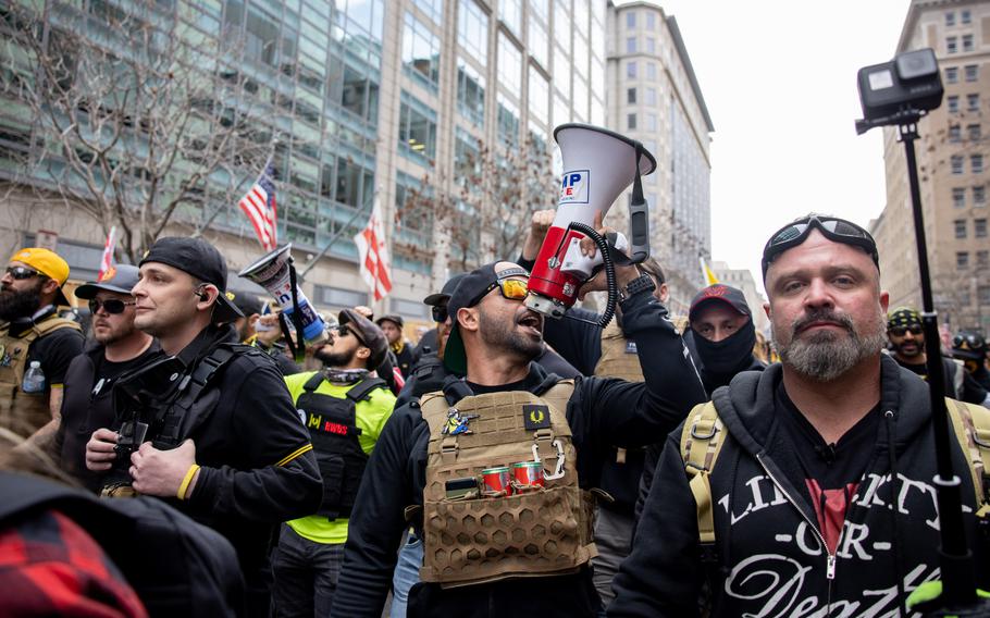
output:
<instances>
[{"instance_id":1,"label":"black jacket with yellow sleeve stripe on man wearing earpiece","mask_svg":"<svg viewBox=\"0 0 990 618\"><path fill-rule=\"evenodd\" d=\"M228 341L228 329L205 329L178 358L191 370ZM193 495L168 502L227 537L250 586L267 563L275 527L315 512L323 482L275 361L260 350L244 350L200 395L198 400L215 403L212 412L182 436L193 438L201 466Z\"/></svg>"}]
</instances>

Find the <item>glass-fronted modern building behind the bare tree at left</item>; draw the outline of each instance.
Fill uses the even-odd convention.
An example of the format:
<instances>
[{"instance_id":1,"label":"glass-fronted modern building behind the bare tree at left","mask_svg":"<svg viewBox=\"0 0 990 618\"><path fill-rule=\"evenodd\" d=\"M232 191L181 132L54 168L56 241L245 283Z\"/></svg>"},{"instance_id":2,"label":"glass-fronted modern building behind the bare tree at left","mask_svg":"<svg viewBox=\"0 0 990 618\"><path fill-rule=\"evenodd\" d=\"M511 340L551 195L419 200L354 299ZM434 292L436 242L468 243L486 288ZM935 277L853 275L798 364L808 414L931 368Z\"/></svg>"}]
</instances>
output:
<instances>
[{"instance_id":1,"label":"glass-fronted modern building behind the bare tree at left","mask_svg":"<svg viewBox=\"0 0 990 618\"><path fill-rule=\"evenodd\" d=\"M95 38L104 28L103 16L133 11L140 3L44 4L46 28L72 28ZM351 237L363 227L375 200L387 222L394 282L392 294L376 310L404 314L410 324L425 321L421 299L450 272L451 255L444 235L435 233L429 209L404 210L407 196L456 195L463 183L458 161L466 153L482 148L511 151L523 144L549 152L553 126L606 122L604 1L147 4L152 8L148 24L161 36L174 37L181 28L189 40L218 47L226 77L251 84L245 95L256 106L250 122L257 124L259 139L273 143L280 240L293 242L297 265L315 260L304 289L329 311L371 304L358 275ZM231 41L236 45L226 45ZM9 48L0 52L0 60L10 64L11 53ZM98 268L106 228L71 206L48 199L50 194L27 190L45 188L50 181L25 175L24 170L51 145L33 134L25 122L26 106L10 90L4 98L0 182L5 190L0 196L5 215L0 219L0 248L12 251L35 242L40 231L41 237L57 237L73 277L88 279ZM550 202L555 190L548 176ZM222 249L232 270L260 257L236 200L211 203L207 195L201 208L177 214L166 232L188 234L219 209L203 235Z\"/></svg>"}]
</instances>

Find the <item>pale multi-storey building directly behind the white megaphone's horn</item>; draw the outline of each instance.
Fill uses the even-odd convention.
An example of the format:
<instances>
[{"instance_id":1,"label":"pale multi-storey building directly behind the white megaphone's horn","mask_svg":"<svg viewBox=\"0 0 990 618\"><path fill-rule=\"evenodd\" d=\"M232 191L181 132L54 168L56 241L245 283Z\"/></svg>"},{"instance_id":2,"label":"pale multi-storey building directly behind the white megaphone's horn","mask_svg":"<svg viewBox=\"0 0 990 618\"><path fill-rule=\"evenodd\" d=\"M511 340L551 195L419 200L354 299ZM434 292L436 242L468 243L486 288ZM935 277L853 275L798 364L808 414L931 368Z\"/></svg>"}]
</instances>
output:
<instances>
[{"instance_id":1,"label":"pale multi-storey building directly behind the white megaphone's horn","mask_svg":"<svg viewBox=\"0 0 990 618\"><path fill-rule=\"evenodd\" d=\"M643 178L652 250L667 273L671 309L685 313L704 286L698 257L711 256L715 127L673 16L653 2L609 2L607 27L608 126L657 159L656 172ZM621 219L628 202L629 191L609 213L620 230L628 225Z\"/></svg>"}]
</instances>

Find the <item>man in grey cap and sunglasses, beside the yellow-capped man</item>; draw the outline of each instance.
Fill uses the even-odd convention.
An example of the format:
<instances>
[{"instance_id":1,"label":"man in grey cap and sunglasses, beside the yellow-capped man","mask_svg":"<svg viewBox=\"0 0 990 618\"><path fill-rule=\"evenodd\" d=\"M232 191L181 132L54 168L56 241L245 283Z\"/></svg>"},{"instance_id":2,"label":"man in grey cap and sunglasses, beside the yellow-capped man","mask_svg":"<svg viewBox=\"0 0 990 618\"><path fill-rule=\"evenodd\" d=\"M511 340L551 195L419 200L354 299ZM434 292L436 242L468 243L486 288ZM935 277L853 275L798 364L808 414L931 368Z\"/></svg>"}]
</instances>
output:
<instances>
[{"instance_id":1,"label":"man in grey cap and sunglasses, beside the yellow-capped man","mask_svg":"<svg viewBox=\"0 0 990 618\"><path fill-rule=\"evenodd\" d=\"M86 489L99 492L102 474L86 468L86 443L92 432L113 424L111 393L117 378L161 355L154 338L134 326L138 269L112 267L103 277L76 288L76 298L89 301L94 342L75 357L65 373L61 420L54 454L62 469Z\"/></svg>"}]
</instances>

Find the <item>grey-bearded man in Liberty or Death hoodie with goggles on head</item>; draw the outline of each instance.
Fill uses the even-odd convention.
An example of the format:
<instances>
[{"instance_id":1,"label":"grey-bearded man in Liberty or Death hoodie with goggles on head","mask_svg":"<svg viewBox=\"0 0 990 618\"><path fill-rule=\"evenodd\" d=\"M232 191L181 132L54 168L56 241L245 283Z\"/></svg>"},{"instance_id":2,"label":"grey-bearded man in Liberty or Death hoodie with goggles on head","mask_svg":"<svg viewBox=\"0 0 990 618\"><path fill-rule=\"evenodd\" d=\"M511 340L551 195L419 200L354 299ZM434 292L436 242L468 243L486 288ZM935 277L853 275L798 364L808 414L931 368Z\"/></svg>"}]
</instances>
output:
<instances>
[{"instance_id":1,"label":"grey-bearded man in Liberty or Death hoodie with goggles on head","mask_svg":"<svg viewBox=\"0 0 990 618\"><path fill-rule=\"evenodd\" d=\"M696 616L700 598L711 616L906 616L906 592L938 578L929 393L881 354L878 264L869 233L841 219L770 237L781 362L739 374L670 434L609 616ZM968 469L968 446L953 449ZM976 489L960 475L977 539Z\"/></svg>"}]
</instances>

